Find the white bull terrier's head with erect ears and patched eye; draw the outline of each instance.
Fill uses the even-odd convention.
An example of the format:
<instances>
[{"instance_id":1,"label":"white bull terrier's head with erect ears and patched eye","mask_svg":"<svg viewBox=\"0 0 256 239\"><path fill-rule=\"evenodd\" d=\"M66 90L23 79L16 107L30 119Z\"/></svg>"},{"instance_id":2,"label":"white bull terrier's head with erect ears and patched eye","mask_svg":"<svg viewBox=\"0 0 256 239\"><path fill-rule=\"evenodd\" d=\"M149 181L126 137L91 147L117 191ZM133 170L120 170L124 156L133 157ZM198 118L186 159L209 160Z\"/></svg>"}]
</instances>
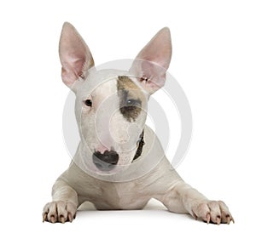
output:
<instances>
[{"instance_id":1,"label":"white bull terrier's head with erect ears and patched eye","mask_svg":"<svg viewBox=\"0 0 256 239\"><path fill-rule=\"evenodd\" d=\"M91 152L85 159L90 168L113 172L142 150L148 98L164 85L171 56L170 31L163 28L137 55L130 71L96 71L78 31L63 25L61 77L76 94L75 114L81 144Z\"/></svg>"}]
</instances>

